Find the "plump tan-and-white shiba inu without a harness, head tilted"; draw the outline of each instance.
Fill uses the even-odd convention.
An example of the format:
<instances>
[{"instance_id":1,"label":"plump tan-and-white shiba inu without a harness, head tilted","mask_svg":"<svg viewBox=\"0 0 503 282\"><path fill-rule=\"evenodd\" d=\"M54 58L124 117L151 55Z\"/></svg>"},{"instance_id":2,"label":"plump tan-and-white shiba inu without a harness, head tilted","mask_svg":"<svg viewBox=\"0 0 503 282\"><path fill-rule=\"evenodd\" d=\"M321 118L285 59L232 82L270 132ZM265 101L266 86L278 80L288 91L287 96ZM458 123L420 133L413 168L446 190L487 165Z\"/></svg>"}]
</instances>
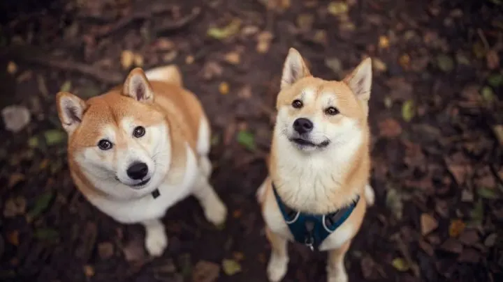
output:
<instances>
[{"instance_id":1,"label":"plump tan-and-white shiba inu without a harness, head tilted","mask_svg":"<svg viewBox=\"0 0 503 282\"><path fill-rule=\"evenodd\" d=\"M124 85L87 101L60 92L57 110L73 182L116 221L143 224L150 255L168 244L161 217L189 195L209 221L224 223L226 207L208 182L210 125L176 66L136 68Z\"/></svg>"}]
</instances>

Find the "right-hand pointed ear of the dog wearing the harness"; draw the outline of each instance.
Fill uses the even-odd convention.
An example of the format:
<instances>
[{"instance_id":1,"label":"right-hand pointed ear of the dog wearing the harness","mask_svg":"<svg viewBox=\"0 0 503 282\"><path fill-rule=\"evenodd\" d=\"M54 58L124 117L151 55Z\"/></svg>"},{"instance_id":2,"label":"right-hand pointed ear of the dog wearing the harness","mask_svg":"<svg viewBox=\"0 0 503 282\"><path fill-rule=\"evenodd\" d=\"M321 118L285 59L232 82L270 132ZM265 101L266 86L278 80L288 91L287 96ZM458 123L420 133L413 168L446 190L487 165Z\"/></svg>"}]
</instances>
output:
<instances>
[{"instance_id":1,"label":"right-hand pointed ear of the dog wearing the harness","mask_svg":"<svg viewBox=\"0 0 503 282\"><path fill-rule=\"evenodd\" d=\"M372 90L372 60L365 58L350 75L344 78L344 82L358 99L368 101Z\"/></svg>"}]
</instances>

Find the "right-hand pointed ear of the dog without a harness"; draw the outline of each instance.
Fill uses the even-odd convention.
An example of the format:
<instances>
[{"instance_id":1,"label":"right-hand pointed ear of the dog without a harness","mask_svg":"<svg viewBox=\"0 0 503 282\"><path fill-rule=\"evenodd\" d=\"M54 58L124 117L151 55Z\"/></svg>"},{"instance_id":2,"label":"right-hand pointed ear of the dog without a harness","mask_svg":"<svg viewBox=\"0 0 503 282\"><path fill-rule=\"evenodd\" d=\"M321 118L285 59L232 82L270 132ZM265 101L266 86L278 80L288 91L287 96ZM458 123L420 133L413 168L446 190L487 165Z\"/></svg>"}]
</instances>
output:
<instances>
[{"instance_id":1,"label":"right-hand pointed ear of the dog without a harness","mask_svg":"<svg viewBox=\"0 0 503 282\"><path fill-rule=\"evenodd\" d=\"M154 101L154 91L141 68L135 68L129 72L124 81L122 94L140 102L152 103Z\"/></svg>"}]
</instances>

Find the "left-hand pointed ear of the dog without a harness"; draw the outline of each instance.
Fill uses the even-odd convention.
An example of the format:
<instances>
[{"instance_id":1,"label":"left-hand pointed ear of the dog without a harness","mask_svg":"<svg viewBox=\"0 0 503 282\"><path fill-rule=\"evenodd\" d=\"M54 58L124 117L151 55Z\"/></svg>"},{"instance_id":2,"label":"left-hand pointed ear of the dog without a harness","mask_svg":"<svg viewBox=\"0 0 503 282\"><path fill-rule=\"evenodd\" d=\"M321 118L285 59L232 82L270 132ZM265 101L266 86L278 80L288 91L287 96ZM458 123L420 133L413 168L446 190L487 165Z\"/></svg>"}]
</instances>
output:
<instances>
[{"instance_id":1,"label":"left-hand pointed ear of the dog without a harness","mask_svg":"<svg viewBox=\"0 0 503 282\"><path fill-rule=\"evenodd\" d=\"M68 92L59 92L56 95L59 120L68 135L82 123L82 116L87 108L84 100Z\"/></svg>"}]
</instances>

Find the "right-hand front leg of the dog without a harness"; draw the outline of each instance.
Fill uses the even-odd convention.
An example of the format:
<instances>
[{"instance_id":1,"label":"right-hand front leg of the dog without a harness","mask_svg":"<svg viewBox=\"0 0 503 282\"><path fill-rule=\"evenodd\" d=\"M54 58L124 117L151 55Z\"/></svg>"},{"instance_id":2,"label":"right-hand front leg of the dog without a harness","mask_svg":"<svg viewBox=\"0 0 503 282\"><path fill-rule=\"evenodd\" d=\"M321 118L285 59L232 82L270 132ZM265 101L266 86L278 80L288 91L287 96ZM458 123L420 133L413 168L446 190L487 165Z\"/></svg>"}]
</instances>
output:
<instances>
[{"instance_id":1,"label":"right-hand front leg of the dog without a harness","mask_svg":"<svg viewBox=\"0 0 503 282\"><path fill-rule=\"evenodd\" d=\"M227 217L227 207L222 203L203 173L198 175L194 183L193 194L201 203L208 221L216 226L224 224Z\"/></svg>"}]
</instances>

